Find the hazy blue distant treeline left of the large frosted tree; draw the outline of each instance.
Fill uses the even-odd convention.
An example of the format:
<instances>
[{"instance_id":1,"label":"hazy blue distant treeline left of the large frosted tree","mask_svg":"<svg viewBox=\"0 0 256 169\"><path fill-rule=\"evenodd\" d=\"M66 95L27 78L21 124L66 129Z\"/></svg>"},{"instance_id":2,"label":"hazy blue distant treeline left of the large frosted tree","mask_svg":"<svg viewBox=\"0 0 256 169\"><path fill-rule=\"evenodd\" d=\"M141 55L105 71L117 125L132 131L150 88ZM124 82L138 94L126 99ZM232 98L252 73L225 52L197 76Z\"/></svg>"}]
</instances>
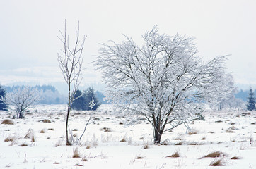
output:
<instances>
[{"instance_id":1,"label":"hazy blue distant treeline left of the large frosted tree","mask_svg":"<svg viewBox=\"0 0 256 169\"><path fill-rule=\"evenodd\" d=\"M6 93L13 92L13 89L18 89L19 87L24 86L3 86L4 89L6 89ZM36 85L31 87L33 89L37 89L40 91L41 99L38 102L38 104L66 104L67 98L64 96L64 94L60 94L59 91L52 85ZM107 101L104 101L104 94L101 92L95 92L95 96L97 97L98 101L100 101L101 104L107 104Z\"/></svg>"}]
</instances>

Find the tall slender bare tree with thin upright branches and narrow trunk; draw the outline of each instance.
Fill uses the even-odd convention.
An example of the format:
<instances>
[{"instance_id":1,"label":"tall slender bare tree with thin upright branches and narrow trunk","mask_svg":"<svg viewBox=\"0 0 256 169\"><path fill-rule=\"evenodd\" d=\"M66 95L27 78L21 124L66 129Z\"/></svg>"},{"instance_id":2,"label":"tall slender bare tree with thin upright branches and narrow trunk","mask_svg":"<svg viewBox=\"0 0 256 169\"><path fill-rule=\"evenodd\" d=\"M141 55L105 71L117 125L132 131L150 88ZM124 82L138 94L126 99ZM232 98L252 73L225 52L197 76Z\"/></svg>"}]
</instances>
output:
<instances>
[{"instance_id":1,"label":"tall slender bare tree with thin upright branches and narrow trunk","mask_svg":"<svg viewBox=\"0 0 256 169\"><path fill-rule=\"evenodd\" d=\"M76 35L74 46L69 44L69 35L67 35L66 29L66 20L65 20L65 30L64 32L59 31L61 36L58 38L64 45L64 49L62 49L62 54L58 53L57 60L59 62L59 68L62 70L62 75L66 84L68 85L68 108L66 111L66 145L71 145L69 141L69 113L71 111L71 105L74 101L74 96L76 94L76 90L78 89L79 84L81 83L82 77L82 64L83 64L83 45L86 40L86 36L83 35L82 39L79 36L79 23L78 27L76 27Z\"/></svg>"}]
</instances>

